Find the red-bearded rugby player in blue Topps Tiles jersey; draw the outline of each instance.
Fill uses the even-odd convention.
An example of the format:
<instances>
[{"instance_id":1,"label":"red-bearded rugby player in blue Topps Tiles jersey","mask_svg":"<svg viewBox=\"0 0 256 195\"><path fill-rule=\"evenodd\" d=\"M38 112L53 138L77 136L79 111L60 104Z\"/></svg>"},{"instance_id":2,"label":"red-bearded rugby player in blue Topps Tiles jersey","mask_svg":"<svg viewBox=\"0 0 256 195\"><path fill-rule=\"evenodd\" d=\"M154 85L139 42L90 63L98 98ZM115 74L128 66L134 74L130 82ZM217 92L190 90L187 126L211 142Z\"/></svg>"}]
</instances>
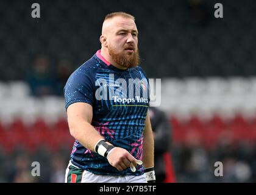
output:
<instances>
[{"instance_id":1,"label":"red-bearded rugby player in blue Topps Tiles jersey","mask_svg":"<svg viewBox=\"0 0 256 195\"><path fill-rule=\"evenodd\" d=\"M65 182L155 182L149 80L139 66L135 18L108 14L99 40L101 49L64 87L76 139Z\"/></svg>"}]
</instances>

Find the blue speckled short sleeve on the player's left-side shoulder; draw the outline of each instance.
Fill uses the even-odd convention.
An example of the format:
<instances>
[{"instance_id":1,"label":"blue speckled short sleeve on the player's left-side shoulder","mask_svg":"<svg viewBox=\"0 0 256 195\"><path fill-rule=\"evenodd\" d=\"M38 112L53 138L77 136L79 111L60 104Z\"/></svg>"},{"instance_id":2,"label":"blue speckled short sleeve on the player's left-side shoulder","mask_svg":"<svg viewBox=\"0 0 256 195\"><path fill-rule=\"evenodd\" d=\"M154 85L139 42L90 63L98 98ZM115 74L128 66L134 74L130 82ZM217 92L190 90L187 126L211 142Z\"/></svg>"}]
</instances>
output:
<instances>
[{"instance_id":1,"label":"blue speckled short sleeve on the player's left-side shoulder","mask_svg":"<svg viewBox=\"0 0 256 195\"><path fill-rule=\"evenodd\" d=\"M64 87L65 108L75 102L85 102L93 105L94 83L91 74L83 69L77 69L69 77Z\"/></svg>"}]
</instances>

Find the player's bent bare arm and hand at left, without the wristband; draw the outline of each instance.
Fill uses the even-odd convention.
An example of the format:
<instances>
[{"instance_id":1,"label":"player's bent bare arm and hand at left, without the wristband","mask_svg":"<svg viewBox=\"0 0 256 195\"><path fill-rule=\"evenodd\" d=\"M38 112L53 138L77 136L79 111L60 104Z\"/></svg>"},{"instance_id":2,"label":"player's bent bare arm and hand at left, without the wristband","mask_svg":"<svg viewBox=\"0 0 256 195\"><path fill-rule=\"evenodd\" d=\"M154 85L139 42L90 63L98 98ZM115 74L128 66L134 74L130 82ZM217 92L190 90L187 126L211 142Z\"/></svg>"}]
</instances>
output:
<instances>
[{"instance_id":1,"label":"player's bent bare arm and hand at left, without the wristband","mask_svg":"<svg viewBox=\"0 0 256 195\"><path fill-rule=\"evenodd\" d=\"M99 132L91 125L93 118L93 107L84 102L76 102L67 108L68 126L71 135L90 151L94 151L99 140L104 139ZM104 139L105 140L105 139ZM110 144L110 143L107 143ZM110 165L118 171L130 167L130 163L137 165L136 159L126 149L115 147L107 157Z\"/></svg>"}]
</instances>

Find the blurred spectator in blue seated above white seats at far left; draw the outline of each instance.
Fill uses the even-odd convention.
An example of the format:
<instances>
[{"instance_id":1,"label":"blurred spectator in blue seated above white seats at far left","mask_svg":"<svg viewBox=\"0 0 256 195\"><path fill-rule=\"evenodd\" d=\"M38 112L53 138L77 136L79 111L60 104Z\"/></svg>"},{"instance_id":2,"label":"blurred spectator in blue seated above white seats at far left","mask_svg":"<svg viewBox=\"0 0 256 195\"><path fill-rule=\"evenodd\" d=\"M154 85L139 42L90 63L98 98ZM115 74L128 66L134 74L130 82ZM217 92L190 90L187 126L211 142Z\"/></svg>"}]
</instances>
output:
<instances>
[{"instance_id":1,"label":"blurred spectator in blue seated above white seats at far left","mask_svg":"<svg viewBox=\"0 0 256 195\"><path fill-rule=\"evenodd\" d=\"M38 56L32 68L27 73L27 83L34 96L54 94L54 76L52 74L48 57Z\"/></svg>"}]
</instances>

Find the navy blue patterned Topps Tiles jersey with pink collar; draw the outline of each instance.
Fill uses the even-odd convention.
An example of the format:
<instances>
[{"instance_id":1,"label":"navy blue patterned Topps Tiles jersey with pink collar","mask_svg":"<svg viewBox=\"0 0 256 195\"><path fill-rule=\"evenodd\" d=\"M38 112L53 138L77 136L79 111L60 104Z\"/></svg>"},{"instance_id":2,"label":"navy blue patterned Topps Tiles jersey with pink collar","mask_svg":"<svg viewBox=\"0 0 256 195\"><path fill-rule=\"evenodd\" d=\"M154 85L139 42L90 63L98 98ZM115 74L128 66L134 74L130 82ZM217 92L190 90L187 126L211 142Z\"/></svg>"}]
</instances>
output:
<instances>
[{"instance_id":1,"label":"navy blue patterned Topps Tiles jersey with pink collar","mask_svg":"<svg viewBox=\"0 0 256 195\"><path fill-rule=\"evenodd\" d=\"M108 142L123 147L133 157L143 155L143 129L149 107L149 80L140 66L121 70L108 63L100 50L76 69L66 82L65 107L85 102L93 107L94 126ZM88 150L77 140L71 152L71 162L79 168L104 175L143 174L130 168L118 171L107 158Z\"/></svg>"}]
</instances>

